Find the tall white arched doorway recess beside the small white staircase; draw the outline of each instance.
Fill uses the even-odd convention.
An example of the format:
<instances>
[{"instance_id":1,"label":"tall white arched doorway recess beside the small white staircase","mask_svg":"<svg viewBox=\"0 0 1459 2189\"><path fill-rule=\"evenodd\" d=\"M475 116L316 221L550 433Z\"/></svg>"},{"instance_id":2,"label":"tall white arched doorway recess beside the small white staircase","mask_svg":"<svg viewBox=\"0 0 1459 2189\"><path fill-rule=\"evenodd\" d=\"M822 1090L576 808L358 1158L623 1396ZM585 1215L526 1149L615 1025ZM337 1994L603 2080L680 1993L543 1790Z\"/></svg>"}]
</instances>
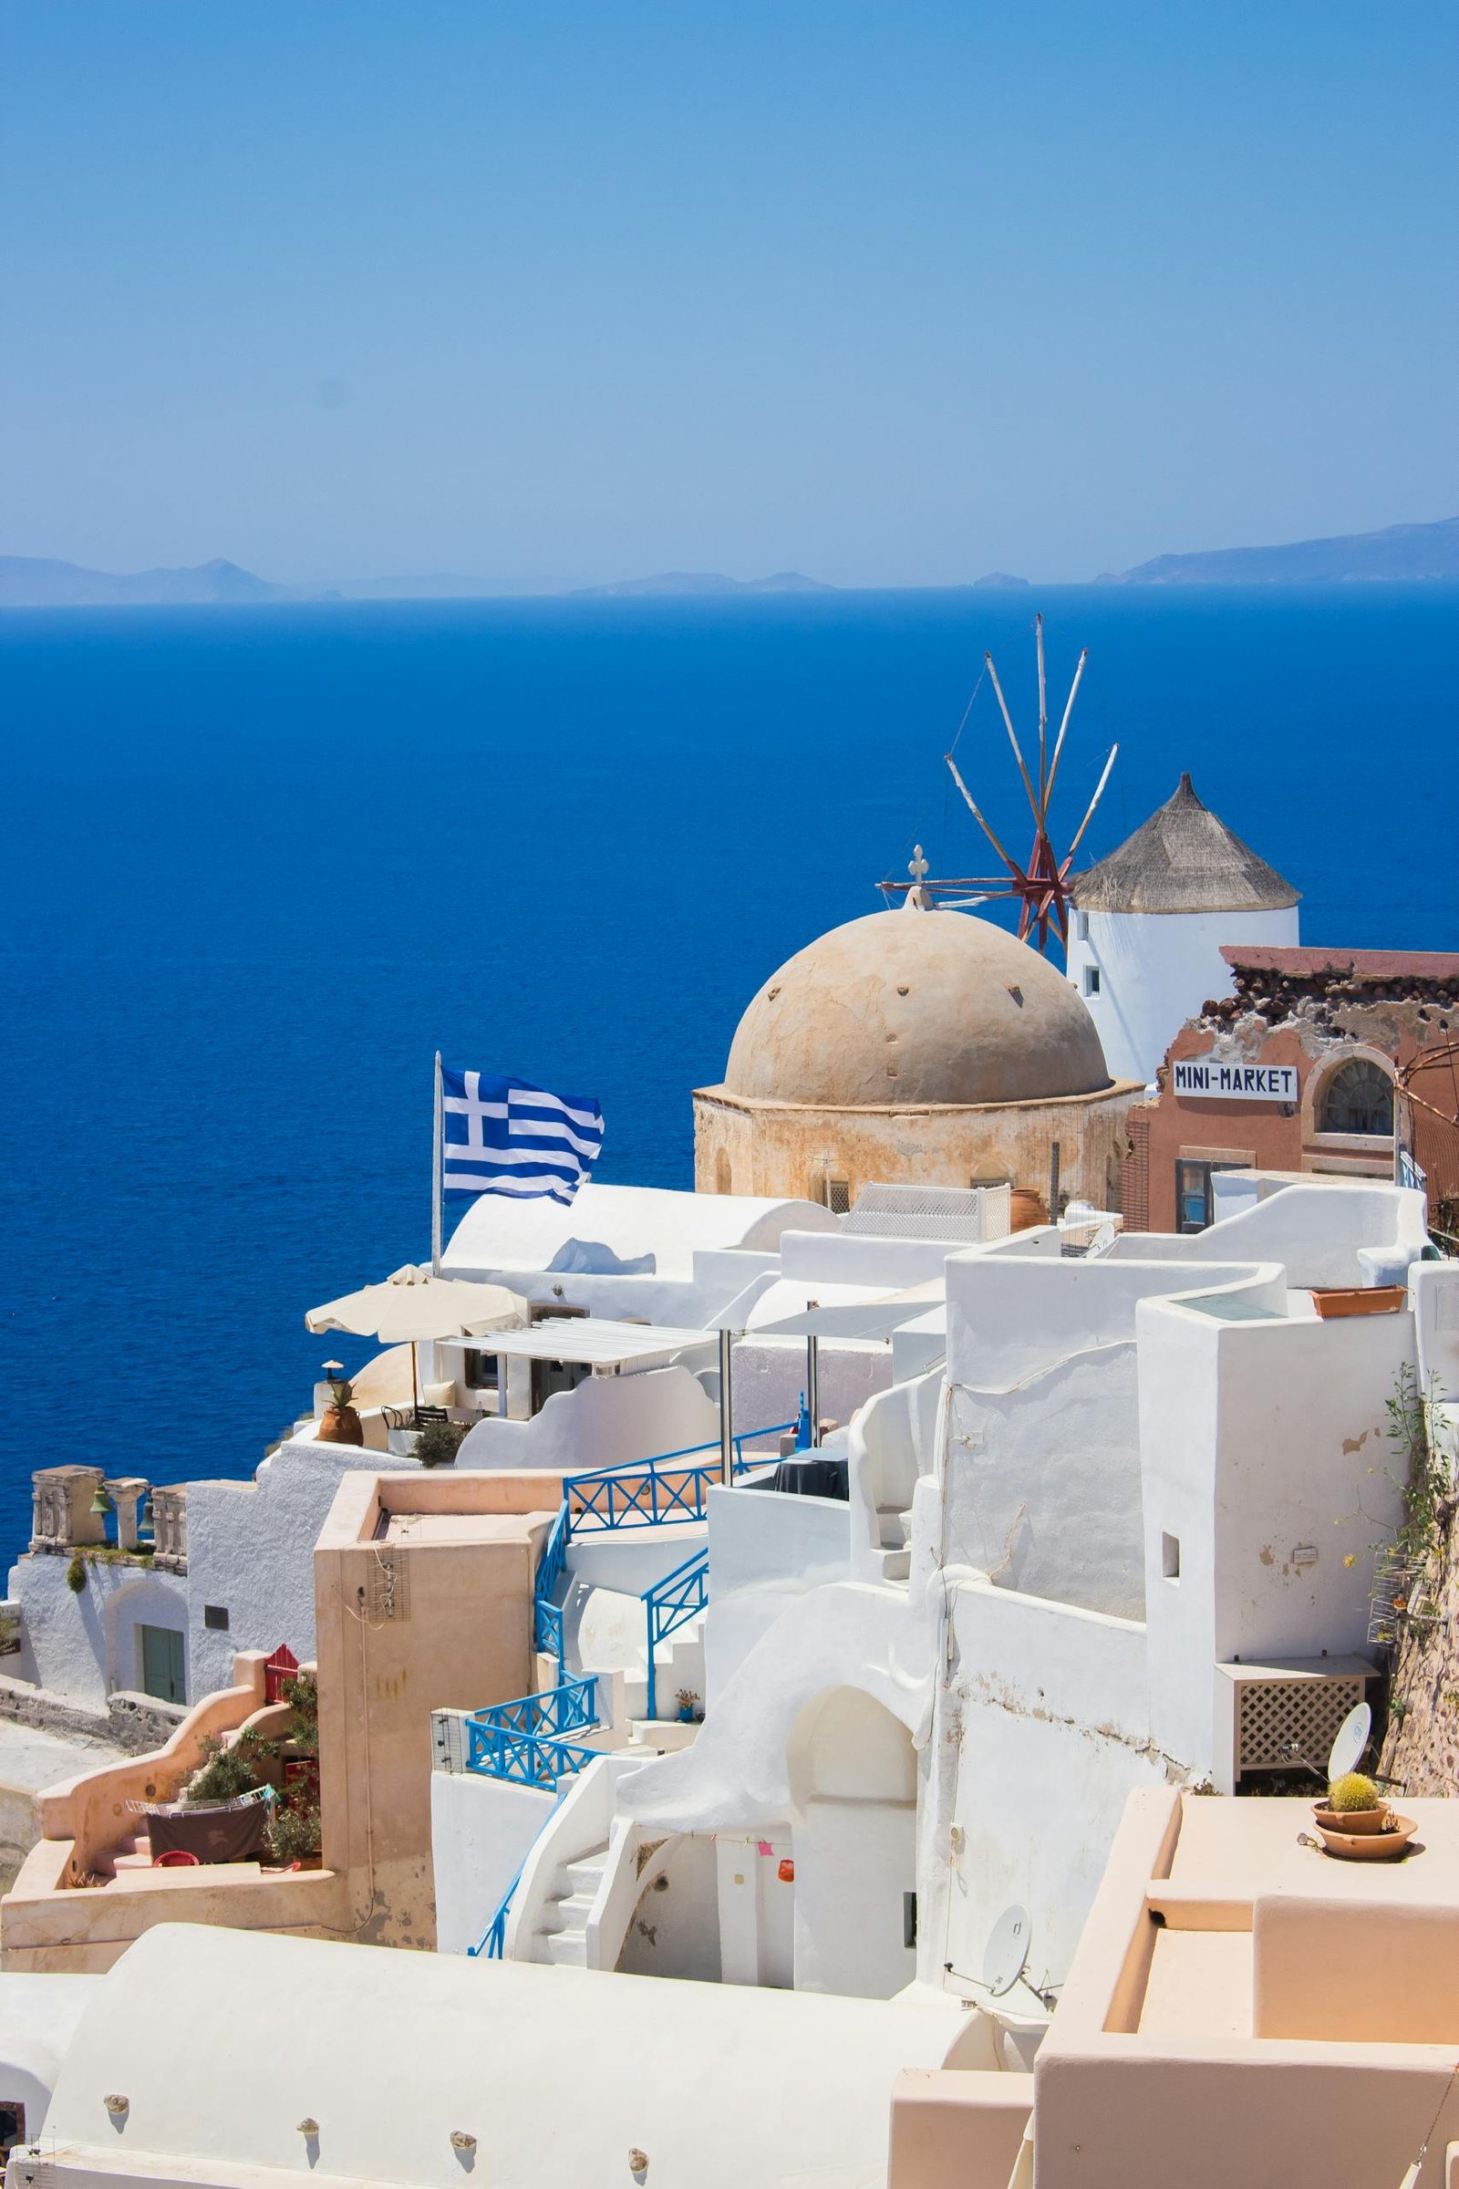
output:
<instances>
[{"instance_id":1,"label":"tall white arched doorway recess beside the small white staircase","mask_svg":"<svg viewBox=\"0 0 1459 2189\"><path fill-rule=\"evenodd\" d=\"M917 1751L862 1688L807 1703L787 1742L798 1992L890 1999L917 1974Z\"/></svg>"}]
</instances>

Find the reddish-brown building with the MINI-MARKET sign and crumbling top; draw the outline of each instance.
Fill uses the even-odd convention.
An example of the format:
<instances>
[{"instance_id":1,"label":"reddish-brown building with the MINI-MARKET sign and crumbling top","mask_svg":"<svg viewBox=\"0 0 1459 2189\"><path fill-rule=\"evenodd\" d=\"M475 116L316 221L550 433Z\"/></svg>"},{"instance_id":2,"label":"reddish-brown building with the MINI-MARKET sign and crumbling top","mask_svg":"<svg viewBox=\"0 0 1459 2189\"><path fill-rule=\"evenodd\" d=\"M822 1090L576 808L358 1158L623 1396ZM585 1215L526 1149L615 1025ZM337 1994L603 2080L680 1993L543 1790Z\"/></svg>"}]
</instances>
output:
<instances>
[{"instance_id":1,"label":"reddish-brown building with the MINI-MARKET sign and crumbling top","mask_svg":"<svg viewBox=\"0 0 1459 2189\"><path fill-rule=\"evenodd\" d=\"M1190 1018L1129 1114L1124 1221L1201 1230L1212 1173L1426 1173L1431 1219L1459 1197L1459 954L1227 946L1236 989ZM1431 1053L1428 1062L1422 1062Z\"/></svg>"}]
</instances>

